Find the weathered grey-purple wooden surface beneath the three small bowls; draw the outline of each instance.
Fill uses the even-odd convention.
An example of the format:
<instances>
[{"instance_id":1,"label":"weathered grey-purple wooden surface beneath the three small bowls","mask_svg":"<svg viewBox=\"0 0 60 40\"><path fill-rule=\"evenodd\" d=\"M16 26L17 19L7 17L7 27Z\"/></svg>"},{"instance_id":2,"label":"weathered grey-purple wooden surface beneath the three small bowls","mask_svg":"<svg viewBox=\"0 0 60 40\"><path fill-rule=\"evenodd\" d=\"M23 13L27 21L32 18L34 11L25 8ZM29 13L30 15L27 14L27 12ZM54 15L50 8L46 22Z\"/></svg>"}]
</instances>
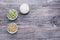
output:
<instances>
[{"instance_id":1,"label":"weathered grey-purple wooden surface beneath the three small bowls","mask_svg":"<svg viewBox=\"0 0 60 40\"><path fill-rule=\"evenodd\" d=\"M21 15L22 3L30 5L28 15ZM15 21L7 19L9 9L19 13ZM60 0L0 0L0 40L60 40ZM15 22L18 32L11 35L7 25Z\"/></svg>"}]
</instances>

